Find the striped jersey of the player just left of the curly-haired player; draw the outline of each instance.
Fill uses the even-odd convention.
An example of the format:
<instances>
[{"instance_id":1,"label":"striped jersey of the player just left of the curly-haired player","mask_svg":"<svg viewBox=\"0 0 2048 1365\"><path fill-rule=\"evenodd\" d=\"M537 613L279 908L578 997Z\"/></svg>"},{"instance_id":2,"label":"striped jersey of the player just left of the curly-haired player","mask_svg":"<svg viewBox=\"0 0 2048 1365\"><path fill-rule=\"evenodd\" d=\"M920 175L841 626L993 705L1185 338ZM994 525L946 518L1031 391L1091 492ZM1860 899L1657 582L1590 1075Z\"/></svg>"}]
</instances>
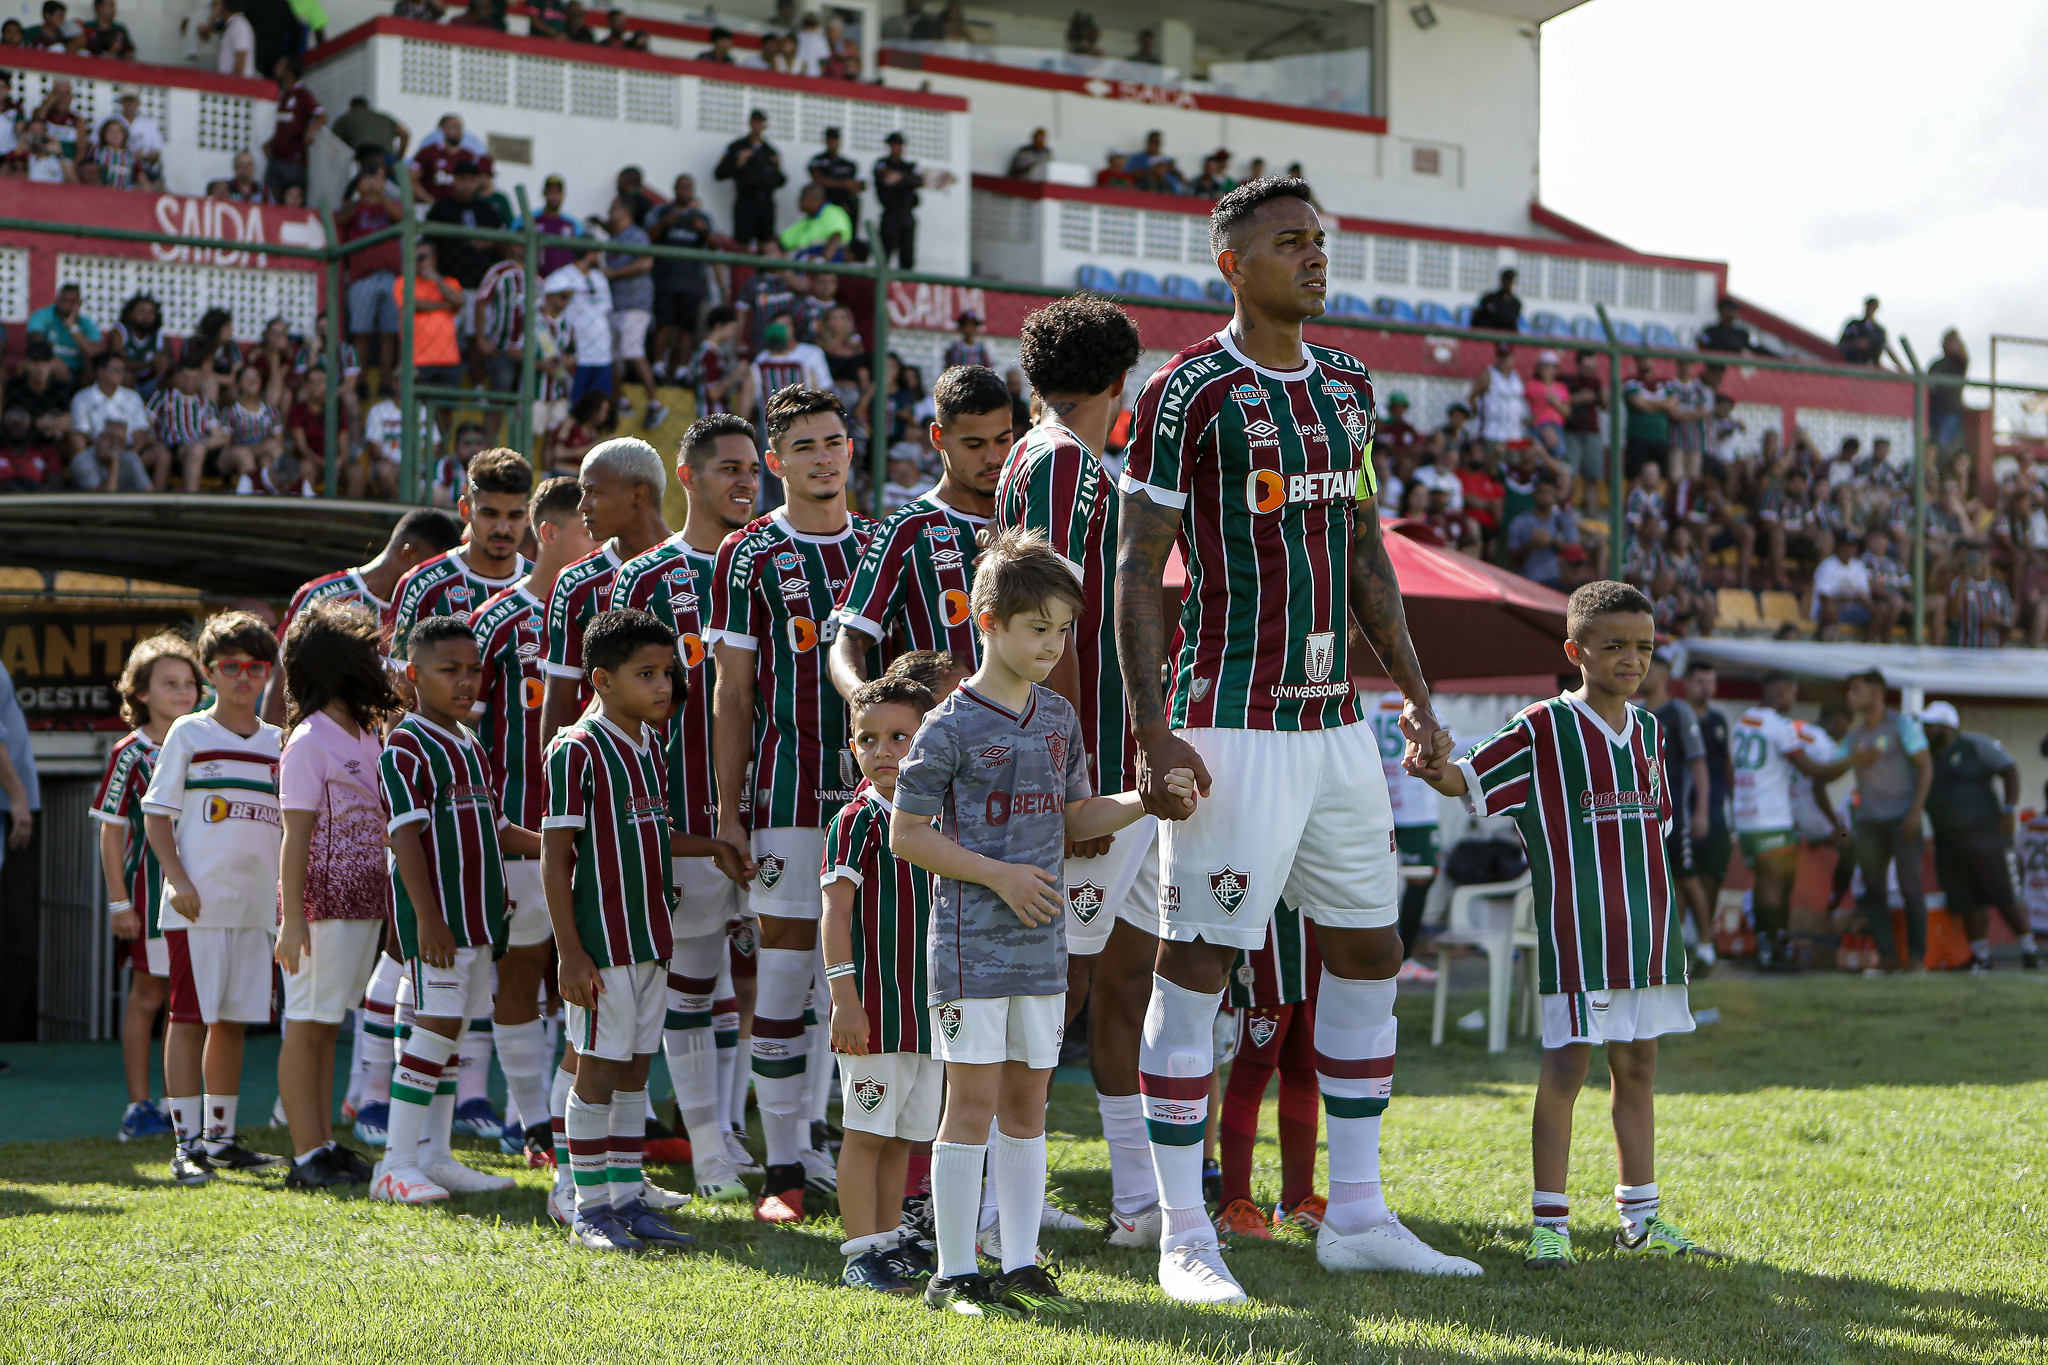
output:
<instances>
[{"instance_id":1,"label":"striped jersey of the player just left of the curly-haired player","mask_svg":"<svg viewBox=\"0 0 2048 1365\"><path fill-rule=\"evenodd\" d=\"M944 649L969 671L981 663L981 634L967 598L975 587L975 534L985 518L938 499L913 497L883 522L840 593L840 628L905 649Z\"/></svg>"}]
</instances>

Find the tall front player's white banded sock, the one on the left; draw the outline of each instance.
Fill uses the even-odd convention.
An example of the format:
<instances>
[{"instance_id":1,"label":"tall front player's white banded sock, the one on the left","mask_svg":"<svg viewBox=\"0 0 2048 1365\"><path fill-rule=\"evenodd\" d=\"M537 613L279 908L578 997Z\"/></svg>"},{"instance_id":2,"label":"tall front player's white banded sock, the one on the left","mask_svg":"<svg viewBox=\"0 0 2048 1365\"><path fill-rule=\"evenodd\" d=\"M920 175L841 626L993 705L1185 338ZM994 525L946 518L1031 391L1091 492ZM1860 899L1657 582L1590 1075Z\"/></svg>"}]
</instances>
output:
<instances>
[{"instance_id":1,"label":"tall front player's white banded sock, the one on the left","mask_svg":"<svg viewBox=\"0 0 2048 1365\"><path fill-rule=\"evenodd\" d=\"M1202 1128L1208 1121L1208 1081L1214 1072L1210 1025L1221 1003L1221 990L1188 990L1155 974L1151 1003L1145 1007L1139 1095L1169 1232L1208 1226L1202 1209Z\"/></svg>"}]
</instances>

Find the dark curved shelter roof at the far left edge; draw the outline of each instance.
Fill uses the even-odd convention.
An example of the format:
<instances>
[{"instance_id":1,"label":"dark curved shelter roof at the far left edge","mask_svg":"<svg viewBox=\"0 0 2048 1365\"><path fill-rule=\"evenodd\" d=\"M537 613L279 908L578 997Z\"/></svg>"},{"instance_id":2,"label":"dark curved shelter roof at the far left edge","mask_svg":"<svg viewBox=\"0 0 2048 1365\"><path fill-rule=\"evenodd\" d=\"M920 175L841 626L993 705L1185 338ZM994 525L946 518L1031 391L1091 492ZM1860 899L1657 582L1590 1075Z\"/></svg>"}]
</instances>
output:
<instances>
[{"instance_id":1,"label":"dark curved shelter roof at the far left edge","mask_svg":"<svg viewBox=\"0 0 2048 1365\"><path fill-rule=\"evenodd\" d=\"M0 497L0 565L287 598L371 559L403 512L326 497L31 493Z\"/></svg>"}]
</instances>

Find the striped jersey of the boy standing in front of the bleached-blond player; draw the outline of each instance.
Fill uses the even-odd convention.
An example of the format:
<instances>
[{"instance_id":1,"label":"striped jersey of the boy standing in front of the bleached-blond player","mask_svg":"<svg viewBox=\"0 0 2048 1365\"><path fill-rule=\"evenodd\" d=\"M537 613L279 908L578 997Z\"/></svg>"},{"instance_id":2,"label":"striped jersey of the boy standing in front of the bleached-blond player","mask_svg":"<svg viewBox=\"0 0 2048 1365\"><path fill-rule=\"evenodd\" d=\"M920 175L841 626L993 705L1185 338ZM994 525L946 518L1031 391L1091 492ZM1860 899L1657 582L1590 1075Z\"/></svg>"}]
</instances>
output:
<instances>
[{"instance_id":1,"label":"striped jersey of the boy standing in front of the bleached-blond player","mask_svg":"<svg viewBox=\"0 0 2048 1365\"><path fill-rule=\"evenodd\" d=\"M635 743L602 714L557 733L547 751L543 829L575 831L575 937L598 966L668 962L668 790L659 737Z\"/></svg>"}]
</instances>

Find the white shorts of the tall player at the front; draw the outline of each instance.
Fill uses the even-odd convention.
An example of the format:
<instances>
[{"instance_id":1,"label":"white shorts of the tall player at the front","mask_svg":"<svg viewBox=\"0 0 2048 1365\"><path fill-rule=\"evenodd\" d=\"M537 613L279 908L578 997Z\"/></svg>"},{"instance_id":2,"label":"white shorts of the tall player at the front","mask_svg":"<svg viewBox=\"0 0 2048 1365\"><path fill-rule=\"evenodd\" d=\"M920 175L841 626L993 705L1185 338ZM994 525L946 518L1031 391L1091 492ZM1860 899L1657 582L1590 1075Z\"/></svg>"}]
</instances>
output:
<instances>
[{"instance_id":1,"label":"white shorts of the tall player at the front","mask_svg":"<svg viewBox=\"0 0 2048 1365\"><path fill-rule=\"evenodd\" d=\"M1335 929L1399 919L1395 814L1372 726L1176 733L1212 786L1192 817L1159 823L1159 937L1253 950L1282 896Z\"/></svg>"}]
</instances>

